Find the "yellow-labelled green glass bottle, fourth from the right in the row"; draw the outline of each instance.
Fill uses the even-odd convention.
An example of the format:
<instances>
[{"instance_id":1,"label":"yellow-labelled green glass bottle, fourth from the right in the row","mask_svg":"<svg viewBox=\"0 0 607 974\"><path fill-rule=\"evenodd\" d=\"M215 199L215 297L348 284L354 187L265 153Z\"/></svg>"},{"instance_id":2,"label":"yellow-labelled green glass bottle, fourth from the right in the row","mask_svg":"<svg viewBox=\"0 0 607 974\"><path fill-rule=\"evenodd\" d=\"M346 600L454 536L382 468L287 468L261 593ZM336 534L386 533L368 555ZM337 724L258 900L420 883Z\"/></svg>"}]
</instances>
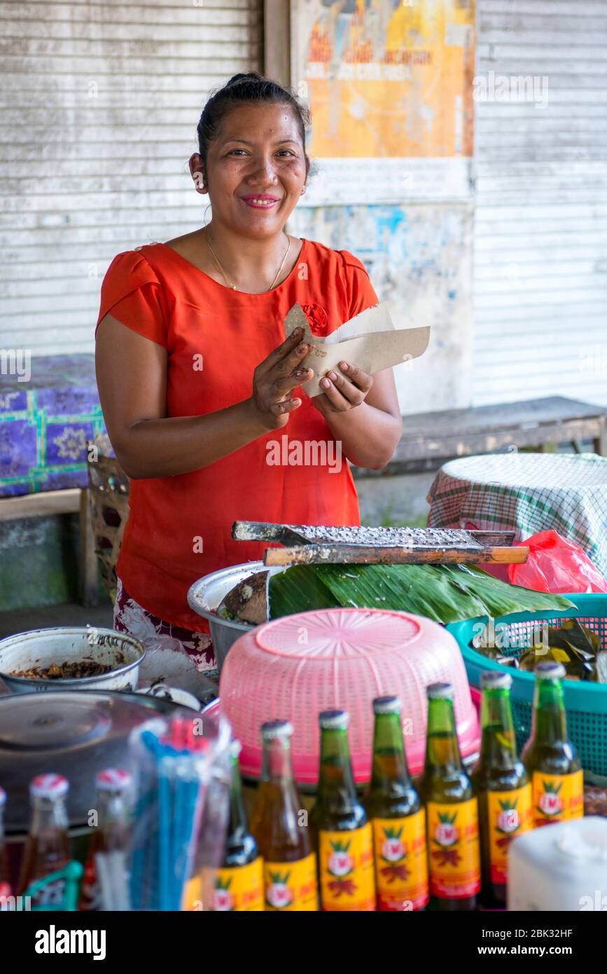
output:
<instances>
[{"instance_id":1,"label":"yellow-labelled green glass bottle, fourth from the right in the row","mask_svg":"<svg viewBox=\"0 0 607 974\"><path fill-rule=\"evenodd\" d=\"M403 913L428 902L426 813L413 787L398 696L378 696L371 788L365 799L374 831L377 909Z\"/></svg>"}]
</instances>

